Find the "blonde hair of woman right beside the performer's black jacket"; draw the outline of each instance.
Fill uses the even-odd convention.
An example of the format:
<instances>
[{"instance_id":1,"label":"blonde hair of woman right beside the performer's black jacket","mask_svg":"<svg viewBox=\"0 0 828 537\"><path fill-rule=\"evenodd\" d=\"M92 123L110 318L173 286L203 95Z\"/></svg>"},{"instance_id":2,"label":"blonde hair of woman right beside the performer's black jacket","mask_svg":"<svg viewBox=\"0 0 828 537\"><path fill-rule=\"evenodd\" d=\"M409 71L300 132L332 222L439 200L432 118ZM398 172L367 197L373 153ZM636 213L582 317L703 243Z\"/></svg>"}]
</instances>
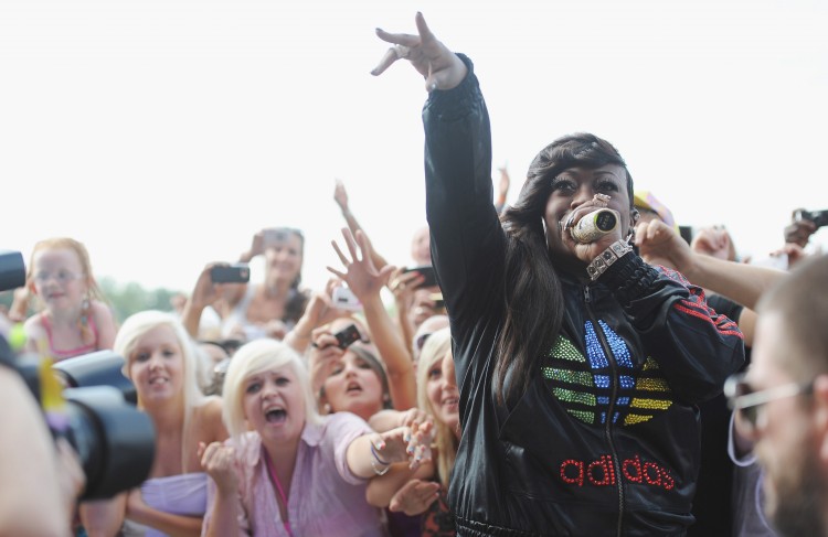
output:
<instances>
[{"instance_id":1,"label":"blonde hair of woman right beside the performer's black jacket","mask_svg":"<svg viewBox=\"0 0 828 537\"><path fill-rule=\"evenodd\" d=\"M437 448L437 475L444 486L448 486L454 460L457 457L457 437L447 423L437 418L432 401L428 399L428 372L434 364L442 362L452 351L452 333L448 327L440 329L425 341L420 352L417 364L417 405L434 420L434 444Z\"/></svg>"}]
</instances>

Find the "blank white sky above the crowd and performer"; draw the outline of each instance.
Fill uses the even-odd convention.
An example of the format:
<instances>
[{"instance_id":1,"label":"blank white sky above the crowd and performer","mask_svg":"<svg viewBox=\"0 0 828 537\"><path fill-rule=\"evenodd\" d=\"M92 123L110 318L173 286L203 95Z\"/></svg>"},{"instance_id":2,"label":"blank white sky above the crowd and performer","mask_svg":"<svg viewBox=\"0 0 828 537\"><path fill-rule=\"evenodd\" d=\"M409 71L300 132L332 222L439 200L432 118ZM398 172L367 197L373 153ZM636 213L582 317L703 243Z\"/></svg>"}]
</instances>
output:
<instances>
[{"instance_id":1,"label":"blank white sky above the crowd and performer","mask_svg":"<svg viewBox=\"0 0 828 537\"><path fill-rule=\"evenodd\" d=\"M476 64L510 200L543 146L592 131L742 254L781 246L792 210L828 210L822 0L0 0L0 248L68 235L98 276L189 291L286 225L320 288L340 178L408 264L426 94L408 65L369 72L373 29L413 33L417 10Z\"/></svg>"}]
</instances>

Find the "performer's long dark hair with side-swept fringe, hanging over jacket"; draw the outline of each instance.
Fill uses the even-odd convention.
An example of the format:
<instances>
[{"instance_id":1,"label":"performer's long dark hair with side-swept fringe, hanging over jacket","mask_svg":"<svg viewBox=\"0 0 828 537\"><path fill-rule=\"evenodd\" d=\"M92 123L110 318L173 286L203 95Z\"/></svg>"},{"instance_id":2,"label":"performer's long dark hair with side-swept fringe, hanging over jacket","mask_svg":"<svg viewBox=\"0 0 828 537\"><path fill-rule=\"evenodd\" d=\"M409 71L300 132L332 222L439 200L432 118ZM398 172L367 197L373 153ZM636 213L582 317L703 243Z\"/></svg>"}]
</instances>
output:
<instances>
[{"instance_id":1,"label":"performer's long dark hair with side-swept fringe, hanging over jacket","mask_svg":"<svg viewBox=\"0 0 828 537\"><path fill-rule=\"evenodd\" d=\"M517 203L500 216L507 236L503 275L507 313L495 366L495 394L499 402L510 405L522 396L563 323L563 293L544 229L552 180L571 168L594 169L606 164L627 168L618 151L594 135L578 132L559 138L532 160ZM627 192L631 207L633 178L628 171Z\"/></svg>"}]
</instances>

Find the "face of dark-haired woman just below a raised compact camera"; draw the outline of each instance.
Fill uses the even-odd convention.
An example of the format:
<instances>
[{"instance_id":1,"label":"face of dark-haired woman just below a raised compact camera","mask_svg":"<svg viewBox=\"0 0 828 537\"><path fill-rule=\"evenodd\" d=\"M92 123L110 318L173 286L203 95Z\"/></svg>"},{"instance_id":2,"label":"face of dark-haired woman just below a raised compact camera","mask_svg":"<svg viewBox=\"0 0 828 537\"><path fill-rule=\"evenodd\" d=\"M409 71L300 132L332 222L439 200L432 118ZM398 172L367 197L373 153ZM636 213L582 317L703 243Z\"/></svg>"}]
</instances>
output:
<instances>
[{"instance_id":1,"label":"face of dark-haired woman just below a raised compact camera","mask_svg":"<svg viewBox=\"0 0 828 537\"><path fill-rule=\"evenodd\" d=\"M353 412L368 419L382 410L382 379L371 364L347 351L325 379L325 397L331 411Z\"/></svg>"}]
</instances>

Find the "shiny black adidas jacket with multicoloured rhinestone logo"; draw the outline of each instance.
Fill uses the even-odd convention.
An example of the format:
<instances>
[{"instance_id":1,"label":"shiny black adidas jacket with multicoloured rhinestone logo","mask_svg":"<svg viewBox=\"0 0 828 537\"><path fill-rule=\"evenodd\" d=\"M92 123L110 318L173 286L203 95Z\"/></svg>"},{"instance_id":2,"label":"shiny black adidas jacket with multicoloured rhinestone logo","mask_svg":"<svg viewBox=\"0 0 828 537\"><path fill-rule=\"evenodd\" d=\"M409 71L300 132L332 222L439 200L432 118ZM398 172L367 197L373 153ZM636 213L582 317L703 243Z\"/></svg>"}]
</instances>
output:
<instances>
[{"instance_id":1,"label":"shiny black adidas jacket with multicoloured rhinestone logo","mask_svg":"<svg viewBox=\"0 0 828 537\"><path fill-rule=\"evenodd\" d=\"M563 333L526 395L497 405L507 238L488 112L460 57L466 79L423 109L432 254L460 389L458 535L682 535L699 470L696 404L742 365L742 334L701 289L633 253L595 283L559 271Z\"/></svg>"}]
</instances>

